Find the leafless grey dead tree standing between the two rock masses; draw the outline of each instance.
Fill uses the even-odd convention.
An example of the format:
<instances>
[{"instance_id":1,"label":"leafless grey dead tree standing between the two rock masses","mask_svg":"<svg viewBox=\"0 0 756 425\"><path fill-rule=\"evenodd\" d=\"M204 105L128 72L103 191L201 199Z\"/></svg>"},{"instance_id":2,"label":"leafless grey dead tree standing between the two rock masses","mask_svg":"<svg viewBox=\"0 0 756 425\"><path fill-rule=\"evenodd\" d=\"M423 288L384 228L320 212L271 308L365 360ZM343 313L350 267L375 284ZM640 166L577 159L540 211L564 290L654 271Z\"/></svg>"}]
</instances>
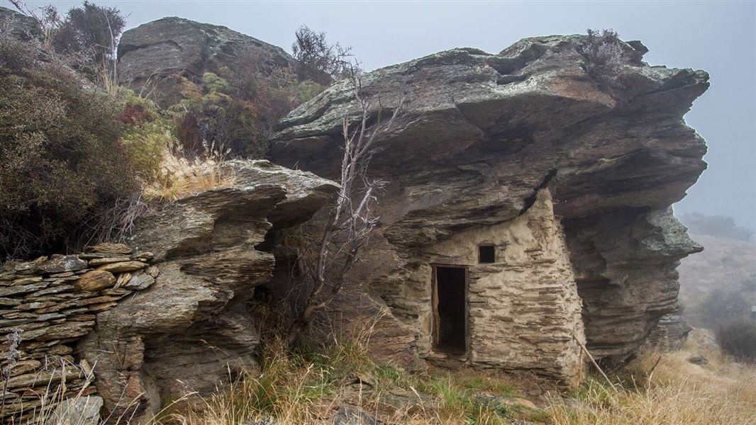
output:
<instances>
[{"instance_id":1,"label":"leafless grey dead tree standing between the two rock masses","mask_svg":"<svg viewBox=\"0 0 756 425\"><path fill-rule=\"evenodd\" d=\"M310 289L302 311L290 327L290 347L302 336L315 313L339 293L346 273L358 260L359 251L379 222L374 206L386 181L368 177L367 168L373 154L380 150L376 141L394 128L404 106L402 93L386 119L380 97L373 109L373 102L365 94L358 66L349 66L347 72L360 115L356 120L345 116L342 121L341 187L324 223L317 254L308 263L299 263Z\"/></svg>"}]
</instances>

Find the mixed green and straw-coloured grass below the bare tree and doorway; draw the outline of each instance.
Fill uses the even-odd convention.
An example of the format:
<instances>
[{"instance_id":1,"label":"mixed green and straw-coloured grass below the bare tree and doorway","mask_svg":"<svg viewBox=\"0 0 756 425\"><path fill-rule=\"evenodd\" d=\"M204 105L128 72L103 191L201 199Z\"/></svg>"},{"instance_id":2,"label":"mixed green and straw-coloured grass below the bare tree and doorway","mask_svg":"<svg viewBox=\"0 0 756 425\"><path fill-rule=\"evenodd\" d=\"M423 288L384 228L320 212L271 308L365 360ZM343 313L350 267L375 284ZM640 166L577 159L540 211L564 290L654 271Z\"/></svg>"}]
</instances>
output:
<instances>
[{"instance_id":1,"label":"mixed green and straw-coloured grass below the bare tree and doorway","mask_svg":"<svg viewBox=\"0 0 756 425\"><path fill-rule=\"evenodd\" d=\"M369 339L370 329L360 330L351 339L338 342L337 337L327 346L291 353L285 340L268 338L258 371L219 387L203 409L173 411L155 423L332 423L345 405L383 423L503 425L537 414L476 398L515 395L503 375L469 370L409 374L373 362L366 350Z\"/></svg>"}]
</instances>

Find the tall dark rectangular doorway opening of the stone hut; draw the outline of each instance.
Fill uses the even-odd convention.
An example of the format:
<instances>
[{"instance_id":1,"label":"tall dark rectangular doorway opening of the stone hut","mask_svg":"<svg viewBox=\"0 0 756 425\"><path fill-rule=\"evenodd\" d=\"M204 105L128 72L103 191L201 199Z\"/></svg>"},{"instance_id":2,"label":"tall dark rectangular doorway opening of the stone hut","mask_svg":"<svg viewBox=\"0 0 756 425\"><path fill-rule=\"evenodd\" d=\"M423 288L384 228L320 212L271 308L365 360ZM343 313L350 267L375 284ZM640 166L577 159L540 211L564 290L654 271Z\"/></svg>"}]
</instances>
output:
<instances>
[{"instance_id":1,"label":"tall dark rectangular doorway opening of the stone hut","mask_svg":"<svg viewBox=\"0 0 756 425\"><path fill-rule=\"evenodd\" d=\"M435 266L433 279L433 342L435 350L467 351L467 269Z\"/></svg>"}]
</instances>

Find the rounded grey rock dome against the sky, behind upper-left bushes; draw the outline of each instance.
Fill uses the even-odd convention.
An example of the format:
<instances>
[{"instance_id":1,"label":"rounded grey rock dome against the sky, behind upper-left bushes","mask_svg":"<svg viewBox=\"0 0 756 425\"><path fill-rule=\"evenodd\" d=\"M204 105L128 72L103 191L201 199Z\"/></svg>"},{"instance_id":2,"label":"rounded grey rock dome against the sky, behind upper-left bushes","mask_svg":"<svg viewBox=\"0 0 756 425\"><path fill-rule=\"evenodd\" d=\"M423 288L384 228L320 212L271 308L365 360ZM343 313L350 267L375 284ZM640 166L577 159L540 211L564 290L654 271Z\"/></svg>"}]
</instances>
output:
<instances>
[{"instance_id":1,"label":"rounded grey rock dome against the sky, behind upper-left bushes","mask_svg":"<svg viewBox=\"0 0 756 425\"><path fill-rule=\"evenodd\" d=\"M225 26L164 17L124 32L118 45L122 84L153 94L161 106L181 100L181 77L198 82L205 72L237 69L240 54L252 52L263 62L292 67L293 57L274 45Z\"/></svg>"}]
</instances>

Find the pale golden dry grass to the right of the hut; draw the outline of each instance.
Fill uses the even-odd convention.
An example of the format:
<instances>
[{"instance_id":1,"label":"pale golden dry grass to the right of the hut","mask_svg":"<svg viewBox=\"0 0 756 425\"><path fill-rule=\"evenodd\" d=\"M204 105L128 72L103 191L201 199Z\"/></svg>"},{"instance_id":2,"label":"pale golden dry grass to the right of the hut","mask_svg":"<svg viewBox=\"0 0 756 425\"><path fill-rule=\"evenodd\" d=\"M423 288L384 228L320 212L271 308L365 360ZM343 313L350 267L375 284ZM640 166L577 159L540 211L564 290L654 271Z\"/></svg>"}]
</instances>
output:
<instances>
[{"instance_id":1,"label":"pale golden dry grass to the right of the hut","mask_svg":"<svg viewBox=\"0 0 756 425\"><path fill-rule=\"evenodd\" d=\"M548 423L756 423L756 366L733 362L712 341L696 330L683 350L644 353L615 376L621 383L617 392L589 380L578 394L577 406L552 403ZM688 359L694 356L705 356L708 364L692 364Z\"/></svg>"}]
</instances>

